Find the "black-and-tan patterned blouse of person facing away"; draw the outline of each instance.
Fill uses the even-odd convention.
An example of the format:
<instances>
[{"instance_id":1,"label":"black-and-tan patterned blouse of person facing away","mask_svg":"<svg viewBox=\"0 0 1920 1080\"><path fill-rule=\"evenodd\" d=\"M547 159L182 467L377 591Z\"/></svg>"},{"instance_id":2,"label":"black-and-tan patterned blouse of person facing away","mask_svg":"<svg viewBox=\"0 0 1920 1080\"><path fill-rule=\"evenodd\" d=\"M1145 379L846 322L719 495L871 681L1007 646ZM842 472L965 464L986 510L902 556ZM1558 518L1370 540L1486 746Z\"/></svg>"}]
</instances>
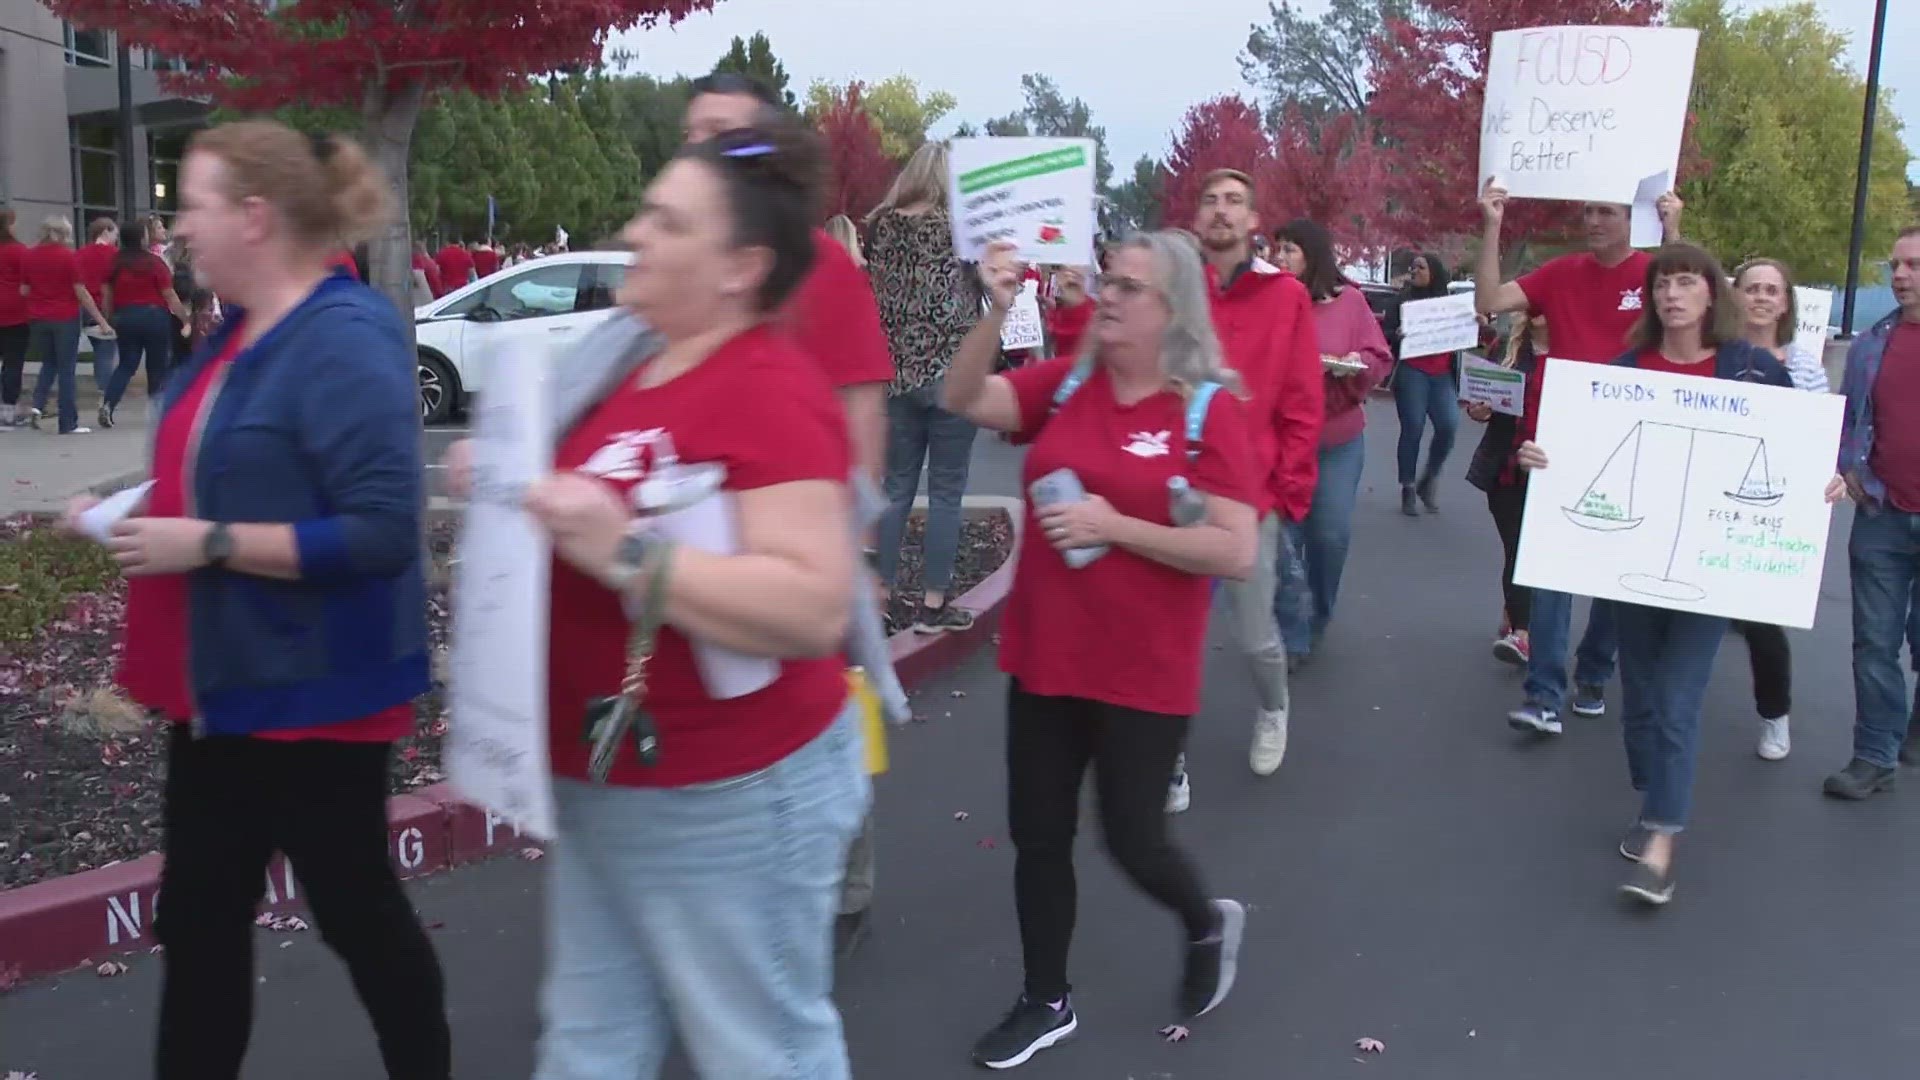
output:
<instances>
[{"instance_id":1,"label":"black-and-tan patterned blouse of person facing away","mask_svg":"<svg viewBox=\"0 0 1920 1080\"><path fill-rule=\"evenodd\" d=\"M866 267L893 350L887 394L908 394L947 375L960 338L981 315L979 279L954 256L947 211L883 211L874 221Z\"/></svg>"}]
</instances>

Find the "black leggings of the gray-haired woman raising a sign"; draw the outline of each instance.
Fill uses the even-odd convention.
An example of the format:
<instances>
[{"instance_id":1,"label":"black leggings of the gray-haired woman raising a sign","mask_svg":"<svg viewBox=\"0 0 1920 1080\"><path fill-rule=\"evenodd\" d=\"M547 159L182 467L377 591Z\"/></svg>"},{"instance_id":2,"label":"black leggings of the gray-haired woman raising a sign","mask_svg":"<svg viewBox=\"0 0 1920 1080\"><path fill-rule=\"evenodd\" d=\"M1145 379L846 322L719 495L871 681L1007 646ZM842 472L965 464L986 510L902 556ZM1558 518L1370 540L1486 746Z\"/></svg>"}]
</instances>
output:
<instances>
[{"instance_id":1,"label":"black leggings of the gray-haired woman raising a sign","mask_svg":"<svg viewBox=\"0 0 1920 1080\"><path fill-rule=\"evenodd\" d=\"M1006 696L1006 803L1014 840L1014 905L1025 992L1056 1001L1071 990L1077 886L1073 832L1092 765L1106 849L1133 884L1173 909L1190 940L1213 932L1200 876L1167 838L1167 776L1187 740L1187 717L1121 709L1081 698Z\"/></svg>"}]
</instances>

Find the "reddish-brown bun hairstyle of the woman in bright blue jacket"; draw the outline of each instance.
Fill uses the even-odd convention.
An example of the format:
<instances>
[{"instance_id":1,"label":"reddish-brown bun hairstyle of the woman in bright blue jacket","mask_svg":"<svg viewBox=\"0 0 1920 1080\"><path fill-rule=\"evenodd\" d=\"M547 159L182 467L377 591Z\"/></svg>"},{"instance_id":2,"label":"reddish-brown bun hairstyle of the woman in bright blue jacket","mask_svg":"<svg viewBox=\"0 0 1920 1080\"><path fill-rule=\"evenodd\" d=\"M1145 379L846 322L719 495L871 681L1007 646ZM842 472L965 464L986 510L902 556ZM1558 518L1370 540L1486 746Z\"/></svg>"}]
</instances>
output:
<instances>
[{"instance_id":1,"label":"reddish-brown bun hairstyle of the woman in bright blue jacket","mask_svg":"<svg viewBox=\"0 0 1920 1080\"><path fill-rule=\"evenodd\" d=\"M227 163L227 196L275 206L311 246L355 246L394 215L394 188L359 142L301 135L284 123L244 119L209 127L186 146Z\"/></svg>"}]
</instances>

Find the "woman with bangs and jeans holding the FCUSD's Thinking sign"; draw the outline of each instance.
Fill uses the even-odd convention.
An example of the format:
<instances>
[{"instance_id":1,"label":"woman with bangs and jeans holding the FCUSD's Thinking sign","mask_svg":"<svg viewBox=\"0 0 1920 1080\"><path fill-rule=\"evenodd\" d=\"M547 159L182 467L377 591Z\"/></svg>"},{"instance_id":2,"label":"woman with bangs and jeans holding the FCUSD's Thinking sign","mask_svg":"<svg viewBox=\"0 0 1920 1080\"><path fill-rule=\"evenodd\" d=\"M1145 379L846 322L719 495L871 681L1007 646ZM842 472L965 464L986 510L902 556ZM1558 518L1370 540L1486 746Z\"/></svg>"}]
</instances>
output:
<instances>
[{"instance_id":1,"label":"woman with bangs and jeans holding the FCUSD's Thinking sign","mask_svg":"<svg viewBox=\"0 0 1920 1080\"><path fill-rule=\"evenodd\" d=\"M1615 363L1642 371L1667 371L1793 386L1770 352L1740 340L1740 313L1726 271L1693 244L1661 248L1647 263L1645 311L1634 327L1632 348ZM1548 467L1536 442L1517 454L1523 469ZM1837 500L1836 479L1826 492ZM1644 603L1617 603L1620 626L1620 688L1626 713L1626 771L1642 794L1640 817L1620 840L1620 855L1636 863L1620 892L1645 903L1672 899L1674 836L1686 828L1693 803L1693 767L1699 757L1699 711L1713 675L1713 657L1726 634L1726 619Z\"/></svg>"}]
</instances>

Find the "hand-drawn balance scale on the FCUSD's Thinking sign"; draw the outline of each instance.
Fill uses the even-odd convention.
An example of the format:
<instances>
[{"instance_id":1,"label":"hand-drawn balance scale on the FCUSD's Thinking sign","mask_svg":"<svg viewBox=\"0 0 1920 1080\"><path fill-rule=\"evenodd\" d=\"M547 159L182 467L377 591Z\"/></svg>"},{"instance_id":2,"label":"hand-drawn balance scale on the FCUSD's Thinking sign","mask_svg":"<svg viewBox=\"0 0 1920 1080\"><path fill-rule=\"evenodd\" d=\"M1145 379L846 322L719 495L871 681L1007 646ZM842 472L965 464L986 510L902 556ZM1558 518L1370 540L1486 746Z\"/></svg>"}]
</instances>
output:
<instances>
[{"instance_id":1,"label":"hand-drawn balance scale on the FCUSD's Thinking sign","mask_svg":"<svg viewBox=\"0 0 1920 1080\"><path fill-rule=\"evenodd\" d=\"M1667 569L1659 575L1620 575L1620 588L1682 603L1705 600L1705 588L1674 577L1674 559L1680 555L1680 534L1686 528L1686 507L1693 498L1695 442L1699 442L1701 436L1718 436L1753 444L1753 454L1747 457L1747 471L1740 477L1740 486L1720 492L1728 500L1745 505L1776 505L1782 498L1786 498L1786 490L1782 490L1782 484L1774 480L1772 469L1768 467L1766 440L1757 434L1661 421L1638 421L1632 430L1626 432L1626 438L1613 448L1613 454L1607 455L1607 461L1599 467L1599 473L1586 486L1586 490L1580 492L1580 498L1574 500L1574 505L1561 507L1567 521L1594 532L1624 532L1628 528L1640 528L1645 521L1644 515L1636 513L1640 446L1645 440L1645 429L1649 427L1686 432L1686 465L1682 467L1682 475L1686 479L1680 482L1680 509L1674 513L1674 540L1667 552Z\"/></svg>"}]
</instances>

